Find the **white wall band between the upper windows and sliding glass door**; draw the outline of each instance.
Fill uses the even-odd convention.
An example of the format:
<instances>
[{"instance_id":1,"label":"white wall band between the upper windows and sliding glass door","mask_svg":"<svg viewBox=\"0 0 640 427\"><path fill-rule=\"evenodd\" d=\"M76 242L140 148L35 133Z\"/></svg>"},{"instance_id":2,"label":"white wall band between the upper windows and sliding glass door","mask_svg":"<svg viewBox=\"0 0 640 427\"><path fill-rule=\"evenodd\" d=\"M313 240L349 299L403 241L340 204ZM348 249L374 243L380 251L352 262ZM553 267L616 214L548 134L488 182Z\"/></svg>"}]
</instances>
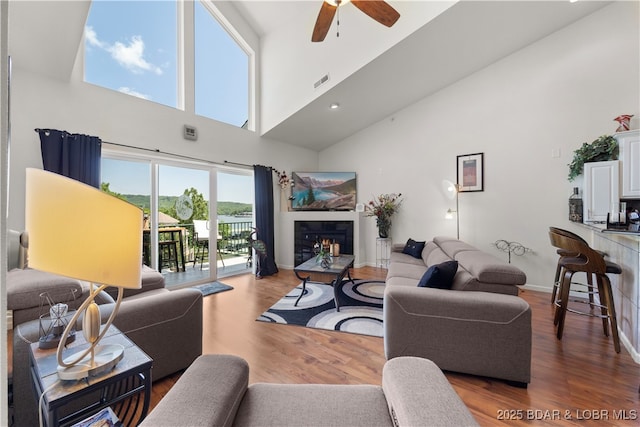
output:
<instances>
[{"instance_id":1,"label":"white wall band between the upper windows and sliding glass door","mask_svg":"<svg viewBox=\"0 0 640 427\"><path fill-rule=\"evenodd\" d=\"M258 51L259 39L251 34L235 9L225 2L218 2L217 6L236 28L243 31L247 43ZM187 29L186 33L189 34L190 30ZM15 45L16 49L21 46L19 41ZM192 75L188 72L192 69L188 64L192 62L193 50L187 49L185 55L186 75L189 76ZM34 128L86 133L107 142L220 163L225 160L260 163L280 170L317 168L318 154L314 151L261 138L256 132L195 115L191 105L192 81L185 84L187 105L182 111L84 83L82 62L80 53L70 81L49 78L46 76L48 70L34 72L21 67L19 61L14 62L10 228L24 227L25 168L42 167L40 142ZM256 69L259 69L259 62L257 55ZM259 86L256 87L258 89ZM259 117L256 121L259 127ZM197 127L198 141L183 139L185 124Z\"/></svg>"}]
</instances>

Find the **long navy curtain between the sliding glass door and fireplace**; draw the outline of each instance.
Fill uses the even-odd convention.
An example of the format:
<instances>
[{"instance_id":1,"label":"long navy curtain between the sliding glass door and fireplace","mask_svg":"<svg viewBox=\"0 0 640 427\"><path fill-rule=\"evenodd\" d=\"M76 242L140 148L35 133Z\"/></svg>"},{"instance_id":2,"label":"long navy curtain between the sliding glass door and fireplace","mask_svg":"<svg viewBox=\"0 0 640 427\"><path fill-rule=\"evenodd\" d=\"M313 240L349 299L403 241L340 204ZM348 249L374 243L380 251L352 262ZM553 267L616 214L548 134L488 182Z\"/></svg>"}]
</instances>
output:
<instances>
[{"instance_id":1,"label":"long navy curtain between the sliding glass door and fireplace","mask_svg":"<svg viewBox=\"0 0 640 427\"><path fill-rule=\"evenodd\" d=\"M278 272L278 266L273 258L273 177L271 168L261 165L253 166L255 187L255 211L257 239L262 240L266 247L265 254L257 254L258 263L256 276L271 276Z\"/></svg>"}]
</instances>

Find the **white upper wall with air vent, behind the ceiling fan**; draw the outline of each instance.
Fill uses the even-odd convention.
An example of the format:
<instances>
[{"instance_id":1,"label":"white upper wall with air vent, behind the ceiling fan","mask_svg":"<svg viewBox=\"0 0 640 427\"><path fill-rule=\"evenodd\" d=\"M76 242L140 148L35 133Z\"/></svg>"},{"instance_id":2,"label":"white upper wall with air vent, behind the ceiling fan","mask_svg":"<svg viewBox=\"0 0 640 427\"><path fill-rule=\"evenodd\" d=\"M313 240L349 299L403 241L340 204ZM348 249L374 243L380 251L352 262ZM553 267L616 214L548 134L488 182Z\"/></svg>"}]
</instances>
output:
<instances>
[{"instance_id":1,"label":"white upper wall with air vent, behind the ceiling fan","mask_svg":"<svg viewBox=\"0 0 640 427\"><path fill-rule=\"evenodd\" d=\"M317 12L287 22L261 41L262 133L334 87L381 53L431 21L454 1L394 2L402 19L381 27L353 5L340 9L340 37L332 25L322 43L310 43ZM320 10L320 2L318 11ZM306 18L306 19L305 19ZM334 18L337 20L337 16ZM377 31L362 31L376 27ZM318 89L325 74L330 80Z\"/></svg>"}]
</instances>

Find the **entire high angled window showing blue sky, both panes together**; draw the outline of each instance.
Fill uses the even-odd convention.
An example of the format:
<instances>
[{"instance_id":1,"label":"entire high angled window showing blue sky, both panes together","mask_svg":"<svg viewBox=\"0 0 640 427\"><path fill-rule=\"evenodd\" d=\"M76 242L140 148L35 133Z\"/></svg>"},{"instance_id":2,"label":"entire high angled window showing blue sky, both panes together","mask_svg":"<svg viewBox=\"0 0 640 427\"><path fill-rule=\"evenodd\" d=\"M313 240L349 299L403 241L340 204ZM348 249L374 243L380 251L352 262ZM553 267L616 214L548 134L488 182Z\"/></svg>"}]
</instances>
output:
<instances>
[{"instance_id":1,"label":"entire high angled window showing blue sky, both panes together","mask_svg":"<svg viewBox=\"0 0 640 427\"><path fill-rule=\"evenodd\" d=\"M92 1L84 80L246 128L252 53L221 20L210 1ZM187 31L194 37L178 36ZM182 40L193 46L179 46ZM193 67L180 67L181 61ZM185 87L195 88L193 96Z\"/></svg>"}]
</instances>

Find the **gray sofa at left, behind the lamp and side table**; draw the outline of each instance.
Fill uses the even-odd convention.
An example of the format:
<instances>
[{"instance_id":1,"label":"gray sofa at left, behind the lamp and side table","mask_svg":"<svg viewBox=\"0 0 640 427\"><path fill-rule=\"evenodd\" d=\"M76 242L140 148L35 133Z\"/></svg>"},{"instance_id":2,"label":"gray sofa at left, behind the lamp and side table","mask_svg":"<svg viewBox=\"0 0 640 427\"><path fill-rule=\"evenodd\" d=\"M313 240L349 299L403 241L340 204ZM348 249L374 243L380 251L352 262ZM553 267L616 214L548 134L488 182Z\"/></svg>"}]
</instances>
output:
<instances>
[{"instance_id":1,"label":"gray sofa at left, behind the lamp and side table","mask_svg":"<svg viewBox=\"0 0 640 427\"><path fill-rule=\"evenodd\" d=\"M88 285L41 272L24 263L26 235L9 233L7 306L13 310L13 404L16 426L36 426L37 401L29 372L29 346L39 338L39 294L60 288L77 289L69 304L79 306ZM23 241L23 245L18 242ZM20 249L22 246L22 249ZM96 299L103 322L115 302L108 292ZM153 359L152 376L158 380L186 369L202 354L202 293L196 289L170 291L160 273L143 267L142 289L125 293L113 324ZM78 322L77 329L82 329ZM78 404L81 405L82 402Z\"/></svg>"}]
</instances>

